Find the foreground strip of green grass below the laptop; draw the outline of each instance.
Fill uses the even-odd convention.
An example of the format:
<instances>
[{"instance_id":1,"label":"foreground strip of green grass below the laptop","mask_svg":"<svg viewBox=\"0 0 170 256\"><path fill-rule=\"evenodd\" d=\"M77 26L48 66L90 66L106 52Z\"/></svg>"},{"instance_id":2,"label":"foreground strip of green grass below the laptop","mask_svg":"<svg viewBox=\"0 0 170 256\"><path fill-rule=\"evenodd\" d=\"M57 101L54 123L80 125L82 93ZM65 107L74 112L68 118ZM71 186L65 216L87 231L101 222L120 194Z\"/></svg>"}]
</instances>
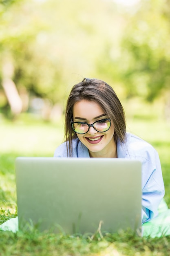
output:
<instances>
[{"instance_id":1,"label":"foreground strip of green grass below the laptop","mask_svg":"<svg viewBox=\"0 0 170 256\"><path fill-rule=\"evenodd\" d=\"M2 237L3 236L3 237ZM139 238L130 232L107 234L100 238L96 234L90 237L63 236L55 234L40 234L8 231L0 232L0 253L11 255L40 256L168 256L170 254L170 238Z\"/></svg>"}]
</instances>

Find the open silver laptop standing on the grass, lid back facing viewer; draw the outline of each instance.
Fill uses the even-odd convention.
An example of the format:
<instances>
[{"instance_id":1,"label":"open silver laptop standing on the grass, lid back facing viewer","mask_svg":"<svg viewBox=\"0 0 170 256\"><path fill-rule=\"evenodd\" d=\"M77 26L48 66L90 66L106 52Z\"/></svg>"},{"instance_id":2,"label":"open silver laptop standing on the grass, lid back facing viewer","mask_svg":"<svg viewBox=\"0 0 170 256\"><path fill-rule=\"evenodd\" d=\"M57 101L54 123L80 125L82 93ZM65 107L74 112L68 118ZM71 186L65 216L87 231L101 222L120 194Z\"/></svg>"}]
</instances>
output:
<instances>
[{"instance_id":1,"label":"open silver laptop standing on the grass, lid back facing viewer","mask_svg":"<svg viewBox=\"0 0 170 256\"><path fill-rule=\"evenodd\" d=\"M141 230L141 162L18 157L19 229L64 234Z\"/></svg>"}]
</instances>

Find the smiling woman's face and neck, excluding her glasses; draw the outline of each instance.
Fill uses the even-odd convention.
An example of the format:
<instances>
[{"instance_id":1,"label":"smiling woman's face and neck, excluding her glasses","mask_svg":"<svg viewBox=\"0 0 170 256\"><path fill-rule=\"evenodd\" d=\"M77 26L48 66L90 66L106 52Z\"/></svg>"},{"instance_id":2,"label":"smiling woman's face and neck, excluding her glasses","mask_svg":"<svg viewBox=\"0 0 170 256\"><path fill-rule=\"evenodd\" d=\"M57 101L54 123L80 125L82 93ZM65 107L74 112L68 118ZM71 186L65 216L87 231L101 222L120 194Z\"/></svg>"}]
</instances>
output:
<instances>
[{"instance_id":1,"label":"smiling woman's face and neck, excluding her glasses","mask_svg":"<svg viewBox=\"0 0 170 256\"><path fill-rule=\"evenodd\" d=\"M93 124L95 121L110 118L95 101L82 100L73 106L73 121ZM115 127L97 132L93 127L85 134L78 134L79 140L88 148L91 157L117 157L117 147L113 138Z\"/></svg>"}]
</instances>

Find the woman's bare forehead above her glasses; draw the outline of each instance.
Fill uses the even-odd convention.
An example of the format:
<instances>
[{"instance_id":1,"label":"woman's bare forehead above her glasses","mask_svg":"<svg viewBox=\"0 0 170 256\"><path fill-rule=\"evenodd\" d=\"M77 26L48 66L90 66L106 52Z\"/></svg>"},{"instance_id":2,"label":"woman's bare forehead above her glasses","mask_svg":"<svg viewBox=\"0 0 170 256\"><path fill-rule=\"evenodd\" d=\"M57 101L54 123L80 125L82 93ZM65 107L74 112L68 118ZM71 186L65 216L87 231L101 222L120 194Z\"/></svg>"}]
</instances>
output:
<instances>
[{"instance_id":1,"label":"woman's bare forehead above her glasses","mask_svg":"<svg viewBox=\"0 0 170 256\"><path fill-rule=\"evenodd\" d=\"M95 117L105 114L104 110L95 101L82 100L76 102L73 106L73 117L82 117L92 120Z\"/></svg>"}]
</instances>

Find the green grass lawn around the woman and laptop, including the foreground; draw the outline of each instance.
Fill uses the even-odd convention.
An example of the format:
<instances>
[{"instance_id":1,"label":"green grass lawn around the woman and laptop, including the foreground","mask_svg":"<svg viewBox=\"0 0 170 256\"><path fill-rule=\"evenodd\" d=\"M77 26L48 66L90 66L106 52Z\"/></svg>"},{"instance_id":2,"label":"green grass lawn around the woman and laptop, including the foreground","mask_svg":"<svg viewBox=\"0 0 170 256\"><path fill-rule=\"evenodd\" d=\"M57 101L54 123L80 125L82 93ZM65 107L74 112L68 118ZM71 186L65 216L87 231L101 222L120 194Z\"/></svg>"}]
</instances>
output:
<instances>
[{"instance_id":1,"label":"green grass lawn around the woman and laptop, including the foreground","mask_svg":"<svg viewBox=\"0 0 170 256\"><path fill-rule=\"evenodd\" d=\"M144 112L145 110L145 112ZM165 182L165 200L170 207L170 126L155 110L128 116L128 130L150 142L158 151ZM153 111L153 112L152 112ZM136 109L139 112L139 109ZM46 123L33 116L13 121L0 119L0 223L16 216L14 162L17 156L53 156L62 143L61 125ZM93 236L66 236L37 230L0 231L2 256L169 256L170 236L140 238L131 231Z\"/></svg>"}]
</instances>

